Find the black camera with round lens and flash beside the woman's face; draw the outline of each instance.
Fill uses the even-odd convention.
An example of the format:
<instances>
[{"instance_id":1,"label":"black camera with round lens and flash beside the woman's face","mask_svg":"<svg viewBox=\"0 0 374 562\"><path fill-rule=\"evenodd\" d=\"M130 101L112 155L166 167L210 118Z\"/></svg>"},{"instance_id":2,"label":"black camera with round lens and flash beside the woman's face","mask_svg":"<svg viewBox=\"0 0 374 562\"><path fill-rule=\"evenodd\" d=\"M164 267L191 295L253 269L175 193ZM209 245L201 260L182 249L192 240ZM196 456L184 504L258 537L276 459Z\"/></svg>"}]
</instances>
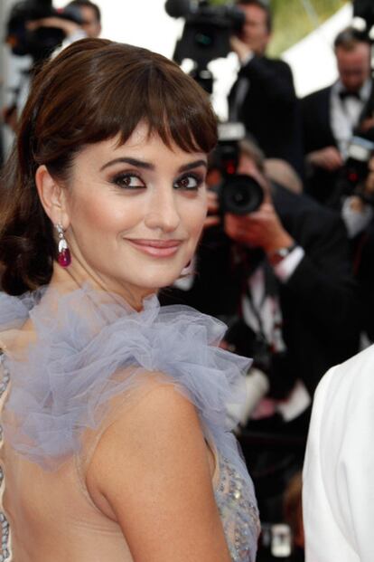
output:
<instances>
[{"instance_id":1,"label":"black camera with round lens and flash beside the woman's face","mask_svg":"<svg viewBox=\"0 0 374 562\"><path fill-rule=\"evenodd\" d=\"M264 200L263 188L252 176L237 174L239 142L245 138L242 123L220 123L219 142L213 151L210 169L217 169L223 181L214 187L220 214L248 214L257 211Z\"/></svg>"}]
</instances>

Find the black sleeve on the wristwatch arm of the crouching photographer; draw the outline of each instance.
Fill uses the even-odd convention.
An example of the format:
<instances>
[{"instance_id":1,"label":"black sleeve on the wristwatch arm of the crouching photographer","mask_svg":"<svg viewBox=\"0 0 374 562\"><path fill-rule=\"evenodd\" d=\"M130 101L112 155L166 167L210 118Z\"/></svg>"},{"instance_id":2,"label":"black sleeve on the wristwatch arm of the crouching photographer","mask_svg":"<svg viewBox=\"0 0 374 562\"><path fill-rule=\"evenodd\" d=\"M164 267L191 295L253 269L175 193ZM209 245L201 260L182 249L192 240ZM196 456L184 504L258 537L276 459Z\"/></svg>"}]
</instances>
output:
<instances>
[{"instance_id":1,"label":"black sleeve on the wristwatch arm of the crouching photographer","mask_svg":"<svg viewBox=\"0 0 374 562\"><path fill-rule=\"evenodd\" d=\"M283 193L279 209L285 229L304 248L304 258L283 285L305 322L323 338L344 341L357 335L360 306L350 246L340 214L306 196ZM291 201L293 200L293 201ZM279 205L279 204L278 204ZM287 205L294 210L287 211ZM295 206L299 207L295 213Z\"/></svg>"}]
</instances>

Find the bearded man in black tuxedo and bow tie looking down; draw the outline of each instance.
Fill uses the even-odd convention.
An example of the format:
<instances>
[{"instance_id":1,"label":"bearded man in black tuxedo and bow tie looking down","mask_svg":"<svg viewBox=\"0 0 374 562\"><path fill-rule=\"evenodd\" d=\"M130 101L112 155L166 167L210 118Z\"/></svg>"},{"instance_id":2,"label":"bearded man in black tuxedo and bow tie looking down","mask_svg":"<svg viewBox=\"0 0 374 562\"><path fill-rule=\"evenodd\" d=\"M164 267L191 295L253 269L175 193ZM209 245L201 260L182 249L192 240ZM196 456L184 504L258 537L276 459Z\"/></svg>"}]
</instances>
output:
<instances>
[{"instance_id":1,"label":"bearded man in black tuxedo and bow tie looking down","mask_svg":"<svg viewBox=\"0 0 374 562\"><path fill-rule=\"evenodd\" d=\"M339 205L339 177L354 132L365 133L372 119L369 38L354 28L334 42L339 78L301 102L306 190L323 204Z\"/></svg>"}]
</instances>

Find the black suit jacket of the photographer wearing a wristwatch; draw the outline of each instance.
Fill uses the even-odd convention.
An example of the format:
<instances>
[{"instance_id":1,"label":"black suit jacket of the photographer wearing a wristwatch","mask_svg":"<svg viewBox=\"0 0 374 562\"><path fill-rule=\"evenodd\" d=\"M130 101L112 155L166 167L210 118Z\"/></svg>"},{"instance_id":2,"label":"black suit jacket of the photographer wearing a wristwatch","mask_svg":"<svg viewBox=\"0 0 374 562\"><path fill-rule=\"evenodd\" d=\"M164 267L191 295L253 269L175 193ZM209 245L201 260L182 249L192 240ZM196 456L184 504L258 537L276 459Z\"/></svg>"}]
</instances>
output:
<instances>
[{"instance_id":1,"label":"black suit jacket of the photographer wearing a wristwatch","mask_svg":"<svg viewBox=\"0 0 374 562\"><path fill-rule=\"evenodd\" d=\"M274 204L285 230L304 248L291 278L278 285L288 349L287 376L300 377L313 394L324 372L358 349L359 304L349 244L339 214L274 186ZM215 242L215 243L214 243ZM170 290L164 303L183 302L213 316L235 314L245 279L230 259L233 244L222 233L201 243L192 290ZM292 380L287 384L290 386Z\"/></svg>"}]
</instances>

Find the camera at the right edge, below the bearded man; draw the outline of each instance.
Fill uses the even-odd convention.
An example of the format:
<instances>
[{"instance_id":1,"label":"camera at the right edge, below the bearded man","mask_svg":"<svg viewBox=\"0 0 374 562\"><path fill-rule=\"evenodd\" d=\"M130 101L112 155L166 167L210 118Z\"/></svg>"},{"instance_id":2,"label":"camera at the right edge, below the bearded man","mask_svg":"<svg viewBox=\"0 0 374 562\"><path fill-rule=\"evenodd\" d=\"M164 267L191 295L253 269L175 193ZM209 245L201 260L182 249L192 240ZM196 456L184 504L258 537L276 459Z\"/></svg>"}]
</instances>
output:
<instances>
[{"instance_id":1,"label":"camera at the right edge, below the bearded man","mask_svg":"<svg viewBox=\"0 0 374 562\"><path fill-rule=\"evenodd\" d=\"M365 203L374 205L374 198L365 192L369 174L369 159L374 154L374 142L369 138L353 137L341 174L341 191L345 195L358 195Z\"/></svg>"}]
</instances>

